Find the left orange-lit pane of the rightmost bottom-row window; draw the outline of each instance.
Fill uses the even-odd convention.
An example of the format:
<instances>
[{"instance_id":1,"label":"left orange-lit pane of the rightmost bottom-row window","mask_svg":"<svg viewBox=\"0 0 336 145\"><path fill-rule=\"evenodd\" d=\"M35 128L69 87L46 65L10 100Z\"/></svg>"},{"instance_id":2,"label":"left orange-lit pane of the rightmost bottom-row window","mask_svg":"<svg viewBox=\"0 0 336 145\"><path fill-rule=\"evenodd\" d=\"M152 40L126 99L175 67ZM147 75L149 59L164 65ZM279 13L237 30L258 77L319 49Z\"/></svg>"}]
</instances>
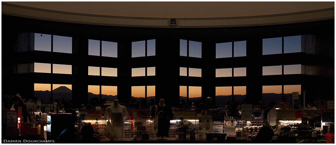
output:
<instances>
[{"instance_id":1,"label":"left orange-lit pane of the rightmost bottom-row window","mask_svg":"<svg viewBox=\"0 0 336 145\"><path fill-rule=\"evenodd\" d=\"M262 86L262 100L264 105L267 105L270 101L278 103L282 98L282 86L281 85L264 85ZM260 100L259 100L260 101Z\"/></svg>"}]
</instances>

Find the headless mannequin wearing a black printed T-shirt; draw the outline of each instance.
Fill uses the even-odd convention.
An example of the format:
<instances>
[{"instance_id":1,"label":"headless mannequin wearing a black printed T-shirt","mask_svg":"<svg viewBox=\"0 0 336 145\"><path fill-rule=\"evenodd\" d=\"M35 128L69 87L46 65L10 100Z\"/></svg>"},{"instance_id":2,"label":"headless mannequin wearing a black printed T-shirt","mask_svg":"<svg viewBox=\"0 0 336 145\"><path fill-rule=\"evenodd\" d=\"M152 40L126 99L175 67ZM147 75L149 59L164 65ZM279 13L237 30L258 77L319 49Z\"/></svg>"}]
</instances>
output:
<instances>
[{"instance_id":1,"label":"headless mannequin wearing a black printed T-shirt","mask_svg":"<svg viewBox=\"0 0 336 145\"><path fill-rule=\"evenodd\" d=\"M157 137L168 137L170 121L173 119L173 112L171 107L164 103L163 99L160 99L158 105L155 105L151 109L151 116L154 117L154 129L153 133Z\"/></svg>"}]
</instances>

